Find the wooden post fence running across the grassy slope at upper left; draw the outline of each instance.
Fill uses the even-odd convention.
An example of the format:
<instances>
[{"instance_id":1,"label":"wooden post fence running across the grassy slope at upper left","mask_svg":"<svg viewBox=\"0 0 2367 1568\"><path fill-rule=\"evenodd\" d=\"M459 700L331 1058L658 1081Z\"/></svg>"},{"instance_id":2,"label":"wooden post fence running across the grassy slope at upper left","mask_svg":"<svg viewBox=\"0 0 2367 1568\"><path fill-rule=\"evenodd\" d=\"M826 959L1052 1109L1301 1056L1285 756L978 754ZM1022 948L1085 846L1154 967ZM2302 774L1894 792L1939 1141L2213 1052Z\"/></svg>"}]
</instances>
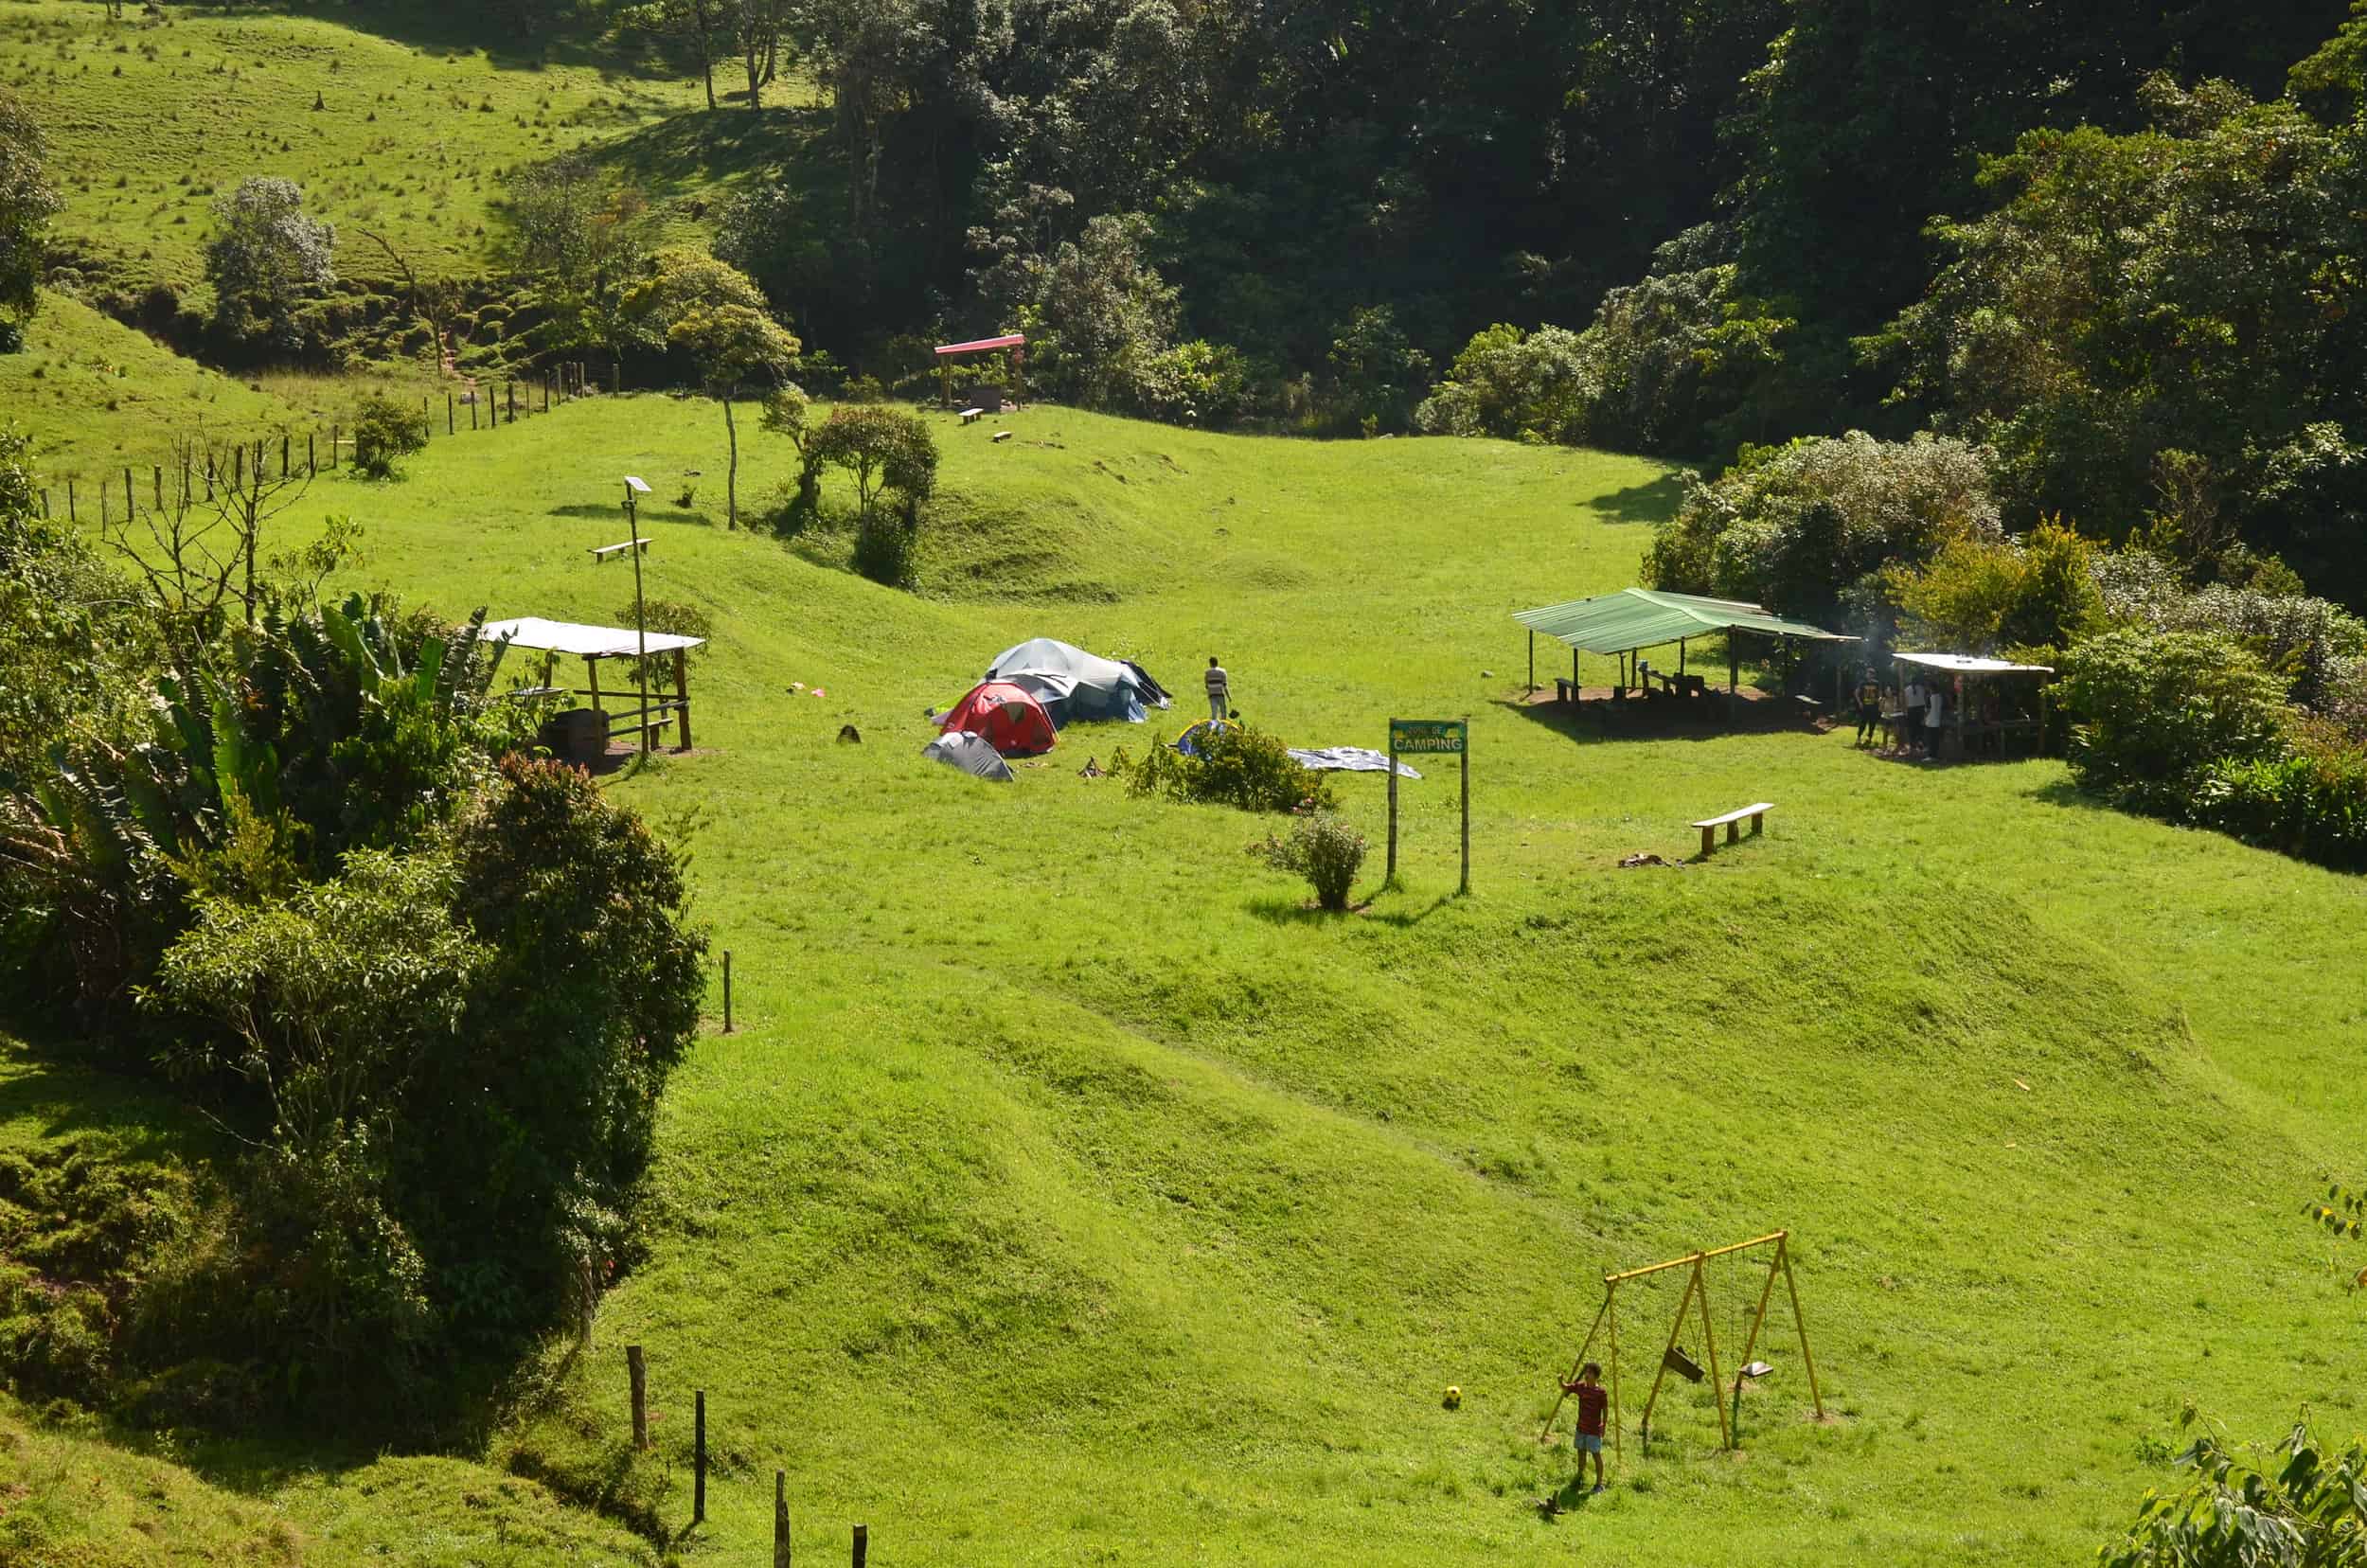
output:
<instances>
[{"instance_id":1,"label":"wooden post fence running across the grassy slope at upper left","mask_svg":"<svg viewBox=\"0 0 2367 1568\"><path fill-rule=\"evenodd\" d=\"M523 391L523 396L521 396ZM469 388L445 388L443 396L443 429L438 431L436 419L436 396L421 393L419 398L419 436L421 441L457 441L471 433L492 433L504 424L516 424L521 417L547 415L552 407L563 407L575 398L596 396L599 381L592 377L592 367L582 360L566 360L561 365L549 365L537 377L525 377L523 388L518 377L504 377L502 381L476 381ZM611 379L611 388L615 384ZM466 424L462 415L466 412ZM483 417L481 417L483 415ZM303 433L303 445L296 443L298 429L289 424L270 426L265 436L237 436L222 441L196 441L187 445L175 445L166 462L149 457L125 460L116 457L95 476L88 469L66 469L62 474L45 474L47 483L40 486L40 514L62 516L71 523L80 523L83 514L102 528L116 521L135 521L142 509L142 488L147 490L147 507L154 512L166 509L166 474L178 471L180 483L173 495L180 505L189 505L194 497L213 500L213 481L218 476L215 462L227 462L232 455L244 464L246 452L256 452L253 462L258 474L270 457L272 438L279 443L279 478L317 478L324 471L334 471L360 452L355 448L355 436L346 431L341 419L329 422L327 431L312 426ZM204 467L196 467L201 460ZM140 483L142 469L147 486ZM92 478L97 486L92 488Z\"/></svg>"}]
</instances>

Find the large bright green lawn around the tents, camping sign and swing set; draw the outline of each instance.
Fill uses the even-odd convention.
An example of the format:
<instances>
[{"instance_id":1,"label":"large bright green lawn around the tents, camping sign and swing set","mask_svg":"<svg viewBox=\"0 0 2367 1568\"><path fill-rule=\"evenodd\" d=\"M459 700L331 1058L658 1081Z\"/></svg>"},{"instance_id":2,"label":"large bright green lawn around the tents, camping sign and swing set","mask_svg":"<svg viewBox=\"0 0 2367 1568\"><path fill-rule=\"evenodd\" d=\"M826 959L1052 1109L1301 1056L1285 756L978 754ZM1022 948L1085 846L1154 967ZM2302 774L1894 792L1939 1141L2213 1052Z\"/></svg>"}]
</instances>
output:
<instances>
[{"instance_id":1,"label":"large bright green lawn around the tents, camping sign and swing set","mask_svg":"<svg viewBox=\"0 0 2367 1568\"><path fill-rule=\"evenodd\" d=\"M2057 763L1531 713L1510 611L1633 580L1673 502L1647 462L1053 407L940 438L918 595L724 531L703 400L438 441L291 514L362 519L350 585L615 623L630 571L587 550L639 474L649 595L715 618L698 753L608 789L689 843L739 1030L670 1090L649 1262L492 1466L613 1485L637 1343L670 1530L710 1400L686 1561L760 1556L783 1469L800 1554L862 1521L881 1563L2033 1563L2168 1478L2185 1400L2362 1424L2360 1298L2298 1213L2360 1165L2360 881L2095 810ZM746 450L743 497L786 478ZM1179 711L1011 786L925 763L923 708L1032 635ZM1382 779L1340 779L1375 855L1335 919L1245 853L1271 822L1079 777L1188 722L1210 654L1295 744L1470 715L1472 895L1451 767L1404 786L1389 893ZM1617 869L1744 801L1766 838ZM1600 1274L1775 1227L1832 1419L1778 1312L1740 1454L1671 1383L1655 1457L1631 1428L1614 1490L1541 1518ZM1716 1267L1721 1355L1756 1284ZM1631 1424L1673 1307L1624 1298Z\"/></svg>"}]
</instances>

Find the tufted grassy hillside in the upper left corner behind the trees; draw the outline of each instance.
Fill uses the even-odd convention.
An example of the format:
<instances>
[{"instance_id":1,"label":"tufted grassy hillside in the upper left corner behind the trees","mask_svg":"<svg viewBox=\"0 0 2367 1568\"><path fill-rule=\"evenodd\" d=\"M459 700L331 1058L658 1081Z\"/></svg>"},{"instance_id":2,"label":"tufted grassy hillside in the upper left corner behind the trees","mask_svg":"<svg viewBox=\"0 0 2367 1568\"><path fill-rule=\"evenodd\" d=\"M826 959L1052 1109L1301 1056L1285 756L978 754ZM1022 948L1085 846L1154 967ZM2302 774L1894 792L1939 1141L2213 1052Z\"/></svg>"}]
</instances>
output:
<instances>
[{"instance_id":1,"label":"tufted grassy hillside in the upper left corner behind the trees","mask_svg":"<svg viewBox=\"0 0 2367 1568\"><path fill-rule=\"evenodd\" d=\"M215 197L249 175L305 189L305 208L338 227L346 275L400 277L369 230L424 277L481 277L514 168L575 149L618 159L660 225L691 234L791 135L786 109L708 114L696 81L632 54L400 0L161 19L128 7L121 21L88 0L9 0L0 85L50 137L66 197L57 239L182 291L201 284ZM720 71L717 90L729 85ZM807 102L810 88L783 81L772 99Z\"/></svg>"}]
</instances>

